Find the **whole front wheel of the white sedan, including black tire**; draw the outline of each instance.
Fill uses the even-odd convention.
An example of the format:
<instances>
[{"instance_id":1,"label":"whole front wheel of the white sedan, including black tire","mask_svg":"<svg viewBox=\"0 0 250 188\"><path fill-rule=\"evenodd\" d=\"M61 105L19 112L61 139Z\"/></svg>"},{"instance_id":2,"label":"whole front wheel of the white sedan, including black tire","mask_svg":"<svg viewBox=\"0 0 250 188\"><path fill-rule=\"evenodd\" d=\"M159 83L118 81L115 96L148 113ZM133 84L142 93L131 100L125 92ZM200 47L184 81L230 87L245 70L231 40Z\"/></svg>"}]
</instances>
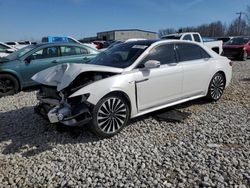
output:
<instances>
[{"instance_id":1,"label":"whole front wheel of the white sedan, including black tire","mask_svg":"<svg viewBox=\"0 0 250 188\"><path fill-rule=\"evenodd\" d=\"M130 108L122 96L108 95L96 104L92 116L92 132L100 137L110 138L128 124Z\"/></svg>"}]
</instances>

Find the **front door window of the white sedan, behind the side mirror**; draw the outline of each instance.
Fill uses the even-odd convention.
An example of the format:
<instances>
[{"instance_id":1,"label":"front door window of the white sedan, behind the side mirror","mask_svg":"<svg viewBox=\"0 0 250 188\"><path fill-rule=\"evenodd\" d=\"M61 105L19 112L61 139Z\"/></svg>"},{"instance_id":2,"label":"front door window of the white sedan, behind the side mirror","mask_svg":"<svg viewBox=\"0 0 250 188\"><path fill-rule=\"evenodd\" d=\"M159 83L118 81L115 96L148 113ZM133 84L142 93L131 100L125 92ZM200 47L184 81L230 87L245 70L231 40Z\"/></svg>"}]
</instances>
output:
<instances>
[{"instance_id":1,"label":"front door window of the white sedan, behind the side mirror","mask_svg":"<svg viewBox=\"0 0 250 188\"><path fill-rule=\"evenodd\" d=\"M164 44L152 49L149 55L143 60L143 64L148 60L160 61L161 65L176 63L174 44Z\"/></svg>"}]
</instances>

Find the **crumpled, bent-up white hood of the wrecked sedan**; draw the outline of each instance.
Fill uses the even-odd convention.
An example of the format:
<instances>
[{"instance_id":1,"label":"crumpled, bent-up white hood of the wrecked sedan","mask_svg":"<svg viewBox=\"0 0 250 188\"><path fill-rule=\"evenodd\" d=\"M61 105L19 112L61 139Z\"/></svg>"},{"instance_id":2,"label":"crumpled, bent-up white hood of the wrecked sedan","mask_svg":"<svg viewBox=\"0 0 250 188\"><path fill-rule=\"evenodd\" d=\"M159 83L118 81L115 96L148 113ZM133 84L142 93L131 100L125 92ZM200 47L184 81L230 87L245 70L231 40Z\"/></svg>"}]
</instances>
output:
<instances>
[{"instance_id":1,"label":"crumpled, bent-up white hood of the wrecked sedan","mask_svg":"<svg viewBox=\"0 0 250 188\"><path fill-rule=\"evenodd\" d=\"M43 85L56 86L57 91L61 91L83 72L121 73L122 71L123 69L114 67L67 63L38 72L31 79Z\"/></svg>"}]
</instances>

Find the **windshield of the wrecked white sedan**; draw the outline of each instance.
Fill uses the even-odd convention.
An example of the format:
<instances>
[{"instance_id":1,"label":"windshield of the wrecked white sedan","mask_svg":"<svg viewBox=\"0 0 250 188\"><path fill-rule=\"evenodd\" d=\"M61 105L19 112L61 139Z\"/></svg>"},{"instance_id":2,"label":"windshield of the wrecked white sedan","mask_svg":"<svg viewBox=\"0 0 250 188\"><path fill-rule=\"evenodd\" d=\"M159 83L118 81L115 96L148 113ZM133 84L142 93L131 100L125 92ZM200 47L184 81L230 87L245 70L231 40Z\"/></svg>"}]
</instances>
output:
<instances>
[{"instance_id":1,"label":"windshield of the wrecked white sedan","mask_svg":"<svg viewBox=\"0 0 250 188\"><path fill-rule=\"evenodd\" d=\"M124 43L100 53L89 64L126 68L148 48L146 44Z\"/></svg>"}]
</instances>

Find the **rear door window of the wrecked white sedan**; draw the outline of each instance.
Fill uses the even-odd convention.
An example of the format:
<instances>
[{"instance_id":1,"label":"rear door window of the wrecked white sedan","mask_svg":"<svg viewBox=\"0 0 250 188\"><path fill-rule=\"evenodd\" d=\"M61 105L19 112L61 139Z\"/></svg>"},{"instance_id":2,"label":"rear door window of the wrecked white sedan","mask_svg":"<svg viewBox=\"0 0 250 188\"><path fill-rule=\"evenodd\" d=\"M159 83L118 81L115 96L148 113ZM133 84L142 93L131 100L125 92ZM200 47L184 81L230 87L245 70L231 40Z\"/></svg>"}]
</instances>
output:
<instances>
[{"instance_id":1,"label":"rear door window of the wrecked white sedan","mask_svg":"<svg viewBox=\"0 0 250 188\"><path fill-rule=\"evenodd\" d=\"M210 55L204 49L195 44L176 44L176 49L180 62L210 58Z\"/></svg>"}]
</instances>

